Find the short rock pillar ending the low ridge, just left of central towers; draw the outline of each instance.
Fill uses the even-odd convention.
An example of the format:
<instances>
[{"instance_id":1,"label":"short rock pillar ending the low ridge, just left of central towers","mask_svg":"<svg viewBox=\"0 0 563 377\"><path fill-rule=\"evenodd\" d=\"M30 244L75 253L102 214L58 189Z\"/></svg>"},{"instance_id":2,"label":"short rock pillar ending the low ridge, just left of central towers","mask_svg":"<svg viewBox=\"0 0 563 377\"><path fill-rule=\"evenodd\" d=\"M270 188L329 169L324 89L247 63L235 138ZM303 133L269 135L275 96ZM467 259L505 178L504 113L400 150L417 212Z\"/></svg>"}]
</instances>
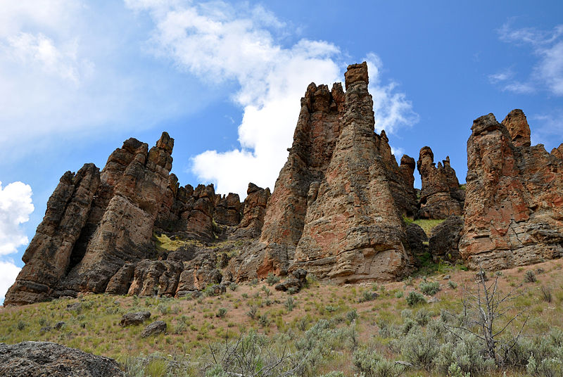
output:
<instances>
[{"instance_id":1,"label":"short rock pillar ending the low ridge, just left of central towers","mask_svg":"<svg viewBox=\"0 0 563 377\"><path fill-rule=\"evenodd\" d=\"M264 189L253 183L248 184L242 219L232 238L257 238L260 236L269 199L270 188Z\"/></svg>"}]
</instances>

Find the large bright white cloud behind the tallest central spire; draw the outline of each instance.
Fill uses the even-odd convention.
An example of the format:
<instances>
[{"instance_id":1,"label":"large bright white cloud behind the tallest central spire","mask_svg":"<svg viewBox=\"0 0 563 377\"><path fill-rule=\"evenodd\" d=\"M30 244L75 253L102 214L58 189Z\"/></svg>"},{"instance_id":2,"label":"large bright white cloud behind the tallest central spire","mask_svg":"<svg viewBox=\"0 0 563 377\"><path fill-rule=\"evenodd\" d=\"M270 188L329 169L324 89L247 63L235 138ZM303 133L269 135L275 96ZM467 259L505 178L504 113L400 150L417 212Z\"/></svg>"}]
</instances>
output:
<instances>
[{"instance_id":1,"label":"large bright white cloud behind the tallest central spire","mask_svg":"<svg viewBox=\"0 0 563 377\"><path fill-rule=\"evenodd\" d=\"M126 0L136 11L150 12L151 39L158 56L172 59L208 82L235 82L234 101L243 108L240 148L205 151L192 159L192 170L218 192L246 196L246 186L272 186L291 146L300 103L310 82L341 81L341 50L327 41L301 39L281 44L284 23L261 6L231 6L177 1ZM381 84L381 60L369 54L370 86L377 128L393 132L417 121L405 94L394 82Z\"/></svg>"}]
</instances>

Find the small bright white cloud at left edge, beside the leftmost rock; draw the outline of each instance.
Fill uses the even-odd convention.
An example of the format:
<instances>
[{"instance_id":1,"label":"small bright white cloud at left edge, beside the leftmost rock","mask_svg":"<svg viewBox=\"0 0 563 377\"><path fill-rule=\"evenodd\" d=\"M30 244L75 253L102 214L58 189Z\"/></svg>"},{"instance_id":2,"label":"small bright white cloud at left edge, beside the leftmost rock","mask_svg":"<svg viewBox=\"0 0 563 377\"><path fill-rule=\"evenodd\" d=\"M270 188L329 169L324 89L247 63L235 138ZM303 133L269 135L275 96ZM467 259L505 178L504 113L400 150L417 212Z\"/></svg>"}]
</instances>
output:
<instances>
[{"instance_id":1,"label":"small bright white cloud at left edge, beside the leftmost rock","mask_svg":"<svg viewBox=\"0 0 563 377\"><path fill-rule=\"evenodd\" d=\"M13 182L2 188L0 182L0 255L16 253L29 242L20 224L29 221L34 210L31 196L27 184Z\"/></svg>"}]
</instances>

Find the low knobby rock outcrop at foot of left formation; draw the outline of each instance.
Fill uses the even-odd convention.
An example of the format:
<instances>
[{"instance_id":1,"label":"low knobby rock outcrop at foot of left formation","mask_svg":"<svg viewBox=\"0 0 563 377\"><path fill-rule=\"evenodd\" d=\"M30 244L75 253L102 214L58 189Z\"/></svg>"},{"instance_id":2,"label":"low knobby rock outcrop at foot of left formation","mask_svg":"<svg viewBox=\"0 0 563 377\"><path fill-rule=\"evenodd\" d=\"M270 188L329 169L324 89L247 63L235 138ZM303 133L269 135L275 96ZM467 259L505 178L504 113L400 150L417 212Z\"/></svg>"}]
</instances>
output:
<instances>
[{"instance_id":1,"label":"low knobby rock outcrop at foot of left formation","mask_svg":"<svg viewBox=\"0 0 563 377\"><path fill-rule=\"evenodd\" d=\"M182 271L184 271L182 262L141 260L135 267L128 294L174 297Z\"/></svg>"}]
</instances>

